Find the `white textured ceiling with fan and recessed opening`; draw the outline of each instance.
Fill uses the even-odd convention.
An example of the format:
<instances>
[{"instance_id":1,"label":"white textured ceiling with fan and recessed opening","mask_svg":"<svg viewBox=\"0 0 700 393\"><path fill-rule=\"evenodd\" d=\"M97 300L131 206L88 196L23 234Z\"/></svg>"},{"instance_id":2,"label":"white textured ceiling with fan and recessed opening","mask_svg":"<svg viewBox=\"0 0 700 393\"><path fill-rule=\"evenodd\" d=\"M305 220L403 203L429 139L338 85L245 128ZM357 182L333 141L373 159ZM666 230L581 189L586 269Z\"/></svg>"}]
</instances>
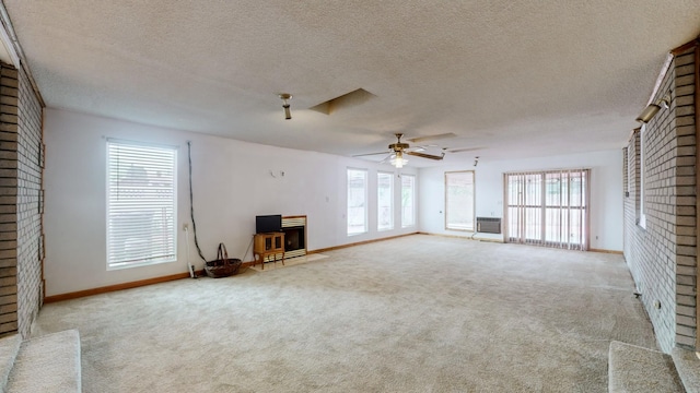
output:
<instances>
[{"instance_id":1,"label":"white textured ceiling with fan and recessed opening","mask_svg":"<svg viewBox=\"0 0 700 393\"><path fill-rule=\"evenodd\" d=\"M445 163L620 147L700 33L700 0L3 2L48 107L347 156L481 147Z\"/></svg>"}]
</instances>

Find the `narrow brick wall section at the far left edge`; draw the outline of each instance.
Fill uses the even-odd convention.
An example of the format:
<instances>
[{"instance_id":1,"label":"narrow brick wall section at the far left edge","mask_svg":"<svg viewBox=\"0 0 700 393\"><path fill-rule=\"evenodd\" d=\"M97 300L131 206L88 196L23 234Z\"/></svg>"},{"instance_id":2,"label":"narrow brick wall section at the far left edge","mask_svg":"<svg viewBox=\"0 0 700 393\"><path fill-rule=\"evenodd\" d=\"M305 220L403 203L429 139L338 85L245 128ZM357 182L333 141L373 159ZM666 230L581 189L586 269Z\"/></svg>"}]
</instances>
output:
<instances>
[{"instance_id":1,"label":"narrow brick wall section at the far left edge","mask_svg":"<svg viewBox=\"0 0 700 393\"><path fill-rule=\"evenodd\" d=\"M0 64L0 335L30 335L43 300L42 105Z\"/></svg>"}]
</instances>

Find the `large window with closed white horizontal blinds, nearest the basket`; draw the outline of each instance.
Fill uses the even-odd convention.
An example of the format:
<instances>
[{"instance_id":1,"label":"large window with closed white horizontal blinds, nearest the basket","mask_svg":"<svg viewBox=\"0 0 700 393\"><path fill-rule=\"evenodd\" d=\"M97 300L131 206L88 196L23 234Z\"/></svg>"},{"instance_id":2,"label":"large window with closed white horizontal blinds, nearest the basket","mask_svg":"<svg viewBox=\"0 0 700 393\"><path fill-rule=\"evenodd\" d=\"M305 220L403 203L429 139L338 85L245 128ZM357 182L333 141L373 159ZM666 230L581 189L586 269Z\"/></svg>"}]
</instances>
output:
<instances>
[{"instance_id":1,"label":"large window with closed white horizontal blinds, nearest the basket","mask_svg":"<svg viewBox=\"0 0 700 393\"><path fill-rule=\"evenodd\" d=\"M176 260L176 147L107 141L108 269Z\"/></svg>"}]
</instances>

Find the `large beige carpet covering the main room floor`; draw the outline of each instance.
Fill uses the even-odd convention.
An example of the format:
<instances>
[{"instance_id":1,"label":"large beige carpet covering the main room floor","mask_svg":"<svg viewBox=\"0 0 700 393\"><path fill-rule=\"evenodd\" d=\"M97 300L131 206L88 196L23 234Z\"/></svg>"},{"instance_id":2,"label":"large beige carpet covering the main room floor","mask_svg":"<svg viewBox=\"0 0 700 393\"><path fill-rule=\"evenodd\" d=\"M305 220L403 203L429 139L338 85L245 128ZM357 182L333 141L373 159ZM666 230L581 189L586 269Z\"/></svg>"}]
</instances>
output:
<instances>
[{"instance_id":1,"label":"large beige carpet covering the main room floor","mask_svg":"<svg viewBox=\"0 0 700 393\"><path fill-rule=\"evenodd\" d=\"M78 329L104 393L606 392L610 341L655 348L621 255L425 235L326 254L49 303L36 332Z\"/></svg>"}]
</instances>

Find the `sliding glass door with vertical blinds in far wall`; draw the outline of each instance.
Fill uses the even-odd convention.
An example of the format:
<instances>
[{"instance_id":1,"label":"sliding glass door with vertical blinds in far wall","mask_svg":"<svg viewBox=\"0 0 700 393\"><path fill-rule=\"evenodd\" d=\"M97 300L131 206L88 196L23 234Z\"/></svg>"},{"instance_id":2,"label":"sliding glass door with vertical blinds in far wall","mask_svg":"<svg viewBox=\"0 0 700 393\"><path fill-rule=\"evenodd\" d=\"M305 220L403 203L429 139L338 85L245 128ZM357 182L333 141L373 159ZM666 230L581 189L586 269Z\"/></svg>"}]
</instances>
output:
<instances>
[{"instance_id":1,"label":"sliding glass door with vertical blinds in far wall","mask_svg":"<svg viewBox=\"0 0 700 393\"><path fill-rule=\"evenodd\" d=\"M588 248L588 169L505 174L506 239Z\"/></svg>"}]
</instances>

